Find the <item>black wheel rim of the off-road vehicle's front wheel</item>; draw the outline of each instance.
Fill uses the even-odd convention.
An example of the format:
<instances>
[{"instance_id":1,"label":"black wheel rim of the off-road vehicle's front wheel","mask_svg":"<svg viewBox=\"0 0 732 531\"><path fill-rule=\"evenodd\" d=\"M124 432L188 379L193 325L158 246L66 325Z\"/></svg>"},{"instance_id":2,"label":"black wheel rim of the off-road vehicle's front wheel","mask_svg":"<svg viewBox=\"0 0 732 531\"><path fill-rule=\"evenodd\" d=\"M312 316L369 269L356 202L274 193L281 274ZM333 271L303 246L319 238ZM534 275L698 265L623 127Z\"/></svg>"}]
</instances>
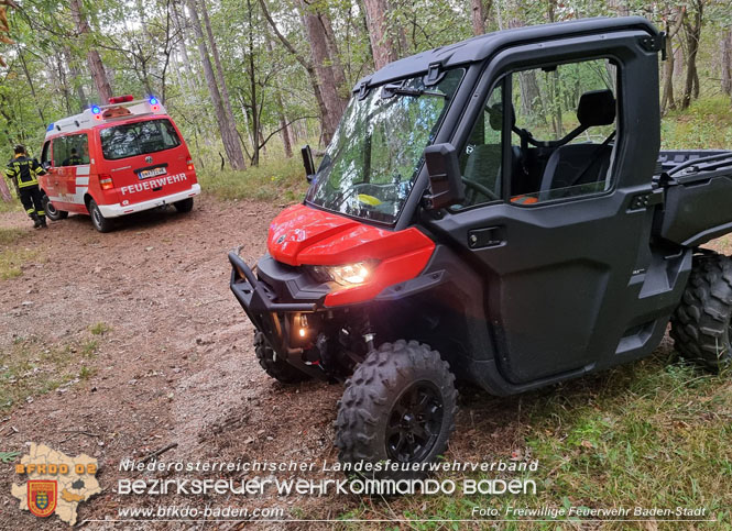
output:
<instances>
[{"instance_id":1,"label":"black wheel rim of the off-road vehicle's front wheel","mask_svg":"<svg viewBox=\"0 0 732 531\"><path fill-rule=\"evenodd\" d=\"M443 429L443 395L430 381L417 381L396 400L386 425L386 453L402 463L419 463Z\"/></svg>"}]
</instances>

